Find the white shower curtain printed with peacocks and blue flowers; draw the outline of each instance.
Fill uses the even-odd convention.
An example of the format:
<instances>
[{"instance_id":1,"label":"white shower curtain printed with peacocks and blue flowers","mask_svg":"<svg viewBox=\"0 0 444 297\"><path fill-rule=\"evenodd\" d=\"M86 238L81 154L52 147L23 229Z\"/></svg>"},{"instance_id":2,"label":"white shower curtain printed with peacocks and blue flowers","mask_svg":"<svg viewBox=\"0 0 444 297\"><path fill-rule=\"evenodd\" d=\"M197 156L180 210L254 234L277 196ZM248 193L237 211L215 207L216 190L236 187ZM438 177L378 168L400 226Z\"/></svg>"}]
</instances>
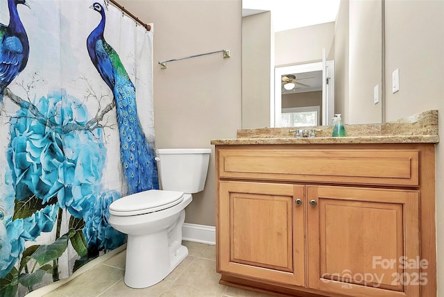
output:
<instances>
[{"instance_id":1,"label":"white shower curtain printed with peacocks and blue flowers","mask_svg":"<svg viewBox=\"0 0 444 297\"><path fill-rule=\"evenodd\" d=\"M142 130L153 151L153 26L146 31L114 6L93 2L29 1L29 9L19 3L15 13L13 0L0 0L0 40L6 26L12 30L0 48L0 79L7 85L0 102L0 296L24 296L67 278L126 242L108 224L108 206L134 192L128 167L151 166L146 187L158 187L155 161L131 163L133 144L122 143ZM99 52L87 49L103 20L101 8L103 37L114 49L106 52L109 60L94 60ZM18 22L25 36L14 35ZM25 37L26 66L13 68L20 60L10 62L7 47L23 54ZM125 94L123 83L130 89Z\"/></svg>"}]
</instances>

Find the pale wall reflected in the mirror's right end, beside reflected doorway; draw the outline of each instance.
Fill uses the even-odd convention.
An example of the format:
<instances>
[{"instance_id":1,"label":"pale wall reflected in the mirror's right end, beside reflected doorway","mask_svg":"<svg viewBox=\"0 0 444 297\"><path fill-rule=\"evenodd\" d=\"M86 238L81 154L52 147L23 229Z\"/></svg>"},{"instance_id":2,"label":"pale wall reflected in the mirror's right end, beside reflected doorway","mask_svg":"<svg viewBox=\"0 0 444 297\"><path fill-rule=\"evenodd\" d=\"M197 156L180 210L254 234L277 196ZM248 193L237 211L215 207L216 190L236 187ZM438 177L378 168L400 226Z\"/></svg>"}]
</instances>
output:
<instances>
[{"instance_id":1,"label":"pale wall reflected in the mirror's right end, beside reflected doorway","mask_svg":"<svg viewBox=\"0 0 444 297\"><path fill-rule=\"evenodd\" d=\"M379 124L382 101L382 1L343 0L336 18L335 112L346 124Z\"/></svg>"}]
</instances>

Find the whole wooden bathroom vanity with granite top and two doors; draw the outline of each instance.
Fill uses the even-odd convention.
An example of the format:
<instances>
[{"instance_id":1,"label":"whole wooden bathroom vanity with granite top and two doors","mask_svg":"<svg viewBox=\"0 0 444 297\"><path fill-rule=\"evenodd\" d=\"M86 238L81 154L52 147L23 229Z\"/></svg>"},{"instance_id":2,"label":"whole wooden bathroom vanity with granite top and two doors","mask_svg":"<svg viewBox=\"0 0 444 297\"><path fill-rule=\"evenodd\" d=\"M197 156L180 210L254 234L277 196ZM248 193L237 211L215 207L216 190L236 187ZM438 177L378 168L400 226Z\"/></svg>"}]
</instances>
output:
<instances>
[{"instance_id":1,"label":"whole wooden bathroom vanity with granite top and two doors","mask_svg":"<svg viewBox=\"0 0 444 297\"><path fill-rule=\"evenodd\" d=\"M435 110L345 126L359 136L298 139L275 128L213 139L221 284L279 296L436 296L437 124Z\"/></svg>"}]
</instances>

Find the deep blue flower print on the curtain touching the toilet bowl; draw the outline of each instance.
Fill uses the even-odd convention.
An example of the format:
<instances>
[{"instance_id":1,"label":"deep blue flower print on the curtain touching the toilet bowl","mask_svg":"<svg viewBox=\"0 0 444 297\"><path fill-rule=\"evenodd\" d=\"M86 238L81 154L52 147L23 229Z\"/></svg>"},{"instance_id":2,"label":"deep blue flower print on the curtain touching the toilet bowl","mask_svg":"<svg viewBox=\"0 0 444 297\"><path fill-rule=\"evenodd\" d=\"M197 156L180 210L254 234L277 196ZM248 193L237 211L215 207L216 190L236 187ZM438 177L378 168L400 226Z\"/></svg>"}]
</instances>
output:
<instances>
[{"instance_id":1,"label":"deep blue flower print on the curtain touching the toilet bowl","mask_svg":"<svg viewBox=\"0 0 444 297\"><path fill-rule=\"evenodd\" d=\"M83 235L89 248L97 248L106 251L121 246L126 241L126 235L115 230L108 223L110 218L110 204L120 198L119 192L110 191L100 194L96 203L87 214L85 214L85 228Z\"/></svg>"}]
</instances>

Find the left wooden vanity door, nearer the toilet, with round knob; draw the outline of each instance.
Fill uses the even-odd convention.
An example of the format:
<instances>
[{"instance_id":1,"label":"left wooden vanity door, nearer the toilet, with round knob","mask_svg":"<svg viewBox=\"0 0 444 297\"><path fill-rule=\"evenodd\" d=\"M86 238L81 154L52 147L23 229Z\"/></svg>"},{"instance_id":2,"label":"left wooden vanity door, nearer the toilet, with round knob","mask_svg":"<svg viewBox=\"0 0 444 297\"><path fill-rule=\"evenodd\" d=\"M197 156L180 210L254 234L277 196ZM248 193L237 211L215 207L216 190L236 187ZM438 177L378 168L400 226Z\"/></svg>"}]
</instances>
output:
<instances>
[{"instance_id":1,"label":"left wooden vanity door, nearer the toilet, with round knob","mask_svg":"<svg viewBox=\"0 0 444 297\"><path fill-rule=\"evenodd\" d=\"M219 182L219 269L305 285L305 187Z\"/></svg>"}]
</instances>

